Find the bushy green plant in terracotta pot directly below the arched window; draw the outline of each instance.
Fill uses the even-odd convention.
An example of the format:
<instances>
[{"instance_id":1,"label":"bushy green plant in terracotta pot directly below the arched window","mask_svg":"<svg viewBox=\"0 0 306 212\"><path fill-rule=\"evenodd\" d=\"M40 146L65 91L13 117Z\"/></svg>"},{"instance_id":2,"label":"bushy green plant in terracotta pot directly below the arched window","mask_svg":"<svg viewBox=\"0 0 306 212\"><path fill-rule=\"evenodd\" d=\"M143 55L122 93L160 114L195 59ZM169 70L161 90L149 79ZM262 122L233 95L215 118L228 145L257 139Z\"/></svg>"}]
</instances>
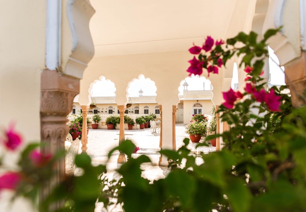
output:
<instances>
[{"instance_id":1,"label":"bushy green plant in terracotta pot directly below the arched window","mask_svg":"<svg viewBox=\"0 0 306 212\"><path fill-rule=\"evenodd\" d=\"M191 142L197 143L202 136L207 135L207 122L191 121L186 125L185 132L189 134Z\"/></svg>"}]
</instances>

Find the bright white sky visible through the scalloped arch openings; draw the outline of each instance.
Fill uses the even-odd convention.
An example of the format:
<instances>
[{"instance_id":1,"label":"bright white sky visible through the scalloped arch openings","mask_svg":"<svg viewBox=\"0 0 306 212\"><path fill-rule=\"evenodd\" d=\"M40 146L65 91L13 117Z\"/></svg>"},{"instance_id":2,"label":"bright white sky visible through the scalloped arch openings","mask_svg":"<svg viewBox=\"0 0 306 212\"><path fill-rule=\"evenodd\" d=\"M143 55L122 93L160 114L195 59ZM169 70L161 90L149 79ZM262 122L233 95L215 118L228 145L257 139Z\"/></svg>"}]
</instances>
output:
<instances>
[{"instance_id":1,"label":"bright white sky visible through the scalloped arch openings","mask_svg":"<svg viewBox=\"0 0 306 212\"><path fill-rule=\"evenodd\" d=\"M279 68L275 62L279 64L279 60L274 54L273 49L269 47L269 66L270 66L270 74L271 74L271 84L273 85L285 85L285 75L282 70L284 70L284 67L282 67L282 70ZM273 61L273 60L275 61ZM186 82L188 83L188 90L203 90L203 82L205 85L205 90L210 90L211 82L209 79L206 79L205 77L199 77L198 75L191 77L187 77ZM183 95L184 87L182 86L185 80L182 79L182 82L180 83L179 87L179 95ZM234 83L238 83L238 71L237 71L237 64L234 64L233 68L233 79L232 79L232 88L234 88ZM179 86L179 85L177 85ZM139 96L139 90L143 91L144 96L156 96L156 86L155 82L152 81L150 78L145 79L144 75L141 75L139 79L135 79L133 82L130 83L130 86L128 88L128 93L130 97L138 97ZM114 97L116 87L114 82L111 82L110 80L106 80L105 77L101 79L101 81L97 81L92 86L92 96L94 97Z\"/></svg>"}]
</instances>

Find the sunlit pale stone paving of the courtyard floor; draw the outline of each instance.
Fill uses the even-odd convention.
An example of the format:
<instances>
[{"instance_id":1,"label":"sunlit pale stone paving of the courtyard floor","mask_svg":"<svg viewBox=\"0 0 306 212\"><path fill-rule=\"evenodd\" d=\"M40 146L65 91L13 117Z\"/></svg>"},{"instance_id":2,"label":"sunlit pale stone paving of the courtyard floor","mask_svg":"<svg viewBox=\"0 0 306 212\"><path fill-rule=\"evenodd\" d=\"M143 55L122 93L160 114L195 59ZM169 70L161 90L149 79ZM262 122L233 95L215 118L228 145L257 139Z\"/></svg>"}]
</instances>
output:
<instances>
[{"instance_id":1,"label":"sunlit pale stone paving of the courtyard floor","mask_svg":"<svg viewBox=\"0 0 306 212\"><path fill-rule=\"evenodd\" d=\"M183 145L183 140L186 137L189 137L188 134L185 133L185 125L184 124L176 124L176 147L177 149ZM125 139L131 140L136 146L139 147L139 150L133 157L137 157L137 155L147 155L152 163L141 165L142 176L147 178L150 181L157 180L160 178L164 178L168 173L169 169L165 166L158 166L159 162L159 133L151 133L150 128L145 128L144 130L125 130ZM89 130L88 133L88 150L87 153L92 159L93 164L106 164L107 167L107 177L111 179L119 179L120 176L116 173L116 169L120 167L120 163L117 163L119 152L115 151L110 160L107 160L108 152L116 147L119 142L119 130ZM203 139L200 142L204 142ZM215 147L209 145L195 148L196 143L190 142L188 147L192 152L196 154L196 152L214 152ZM80 150L81 152L81 150ZM199 163L201 163L199 161ZM81 170L76 169L75 174L80 174ZM109 208L105 210L103 208L103 203L98 203L96 205L95 212L100 211L112 211L118 212L122 211L120 206L115 208Z\"/></svg>"}]
</instances>

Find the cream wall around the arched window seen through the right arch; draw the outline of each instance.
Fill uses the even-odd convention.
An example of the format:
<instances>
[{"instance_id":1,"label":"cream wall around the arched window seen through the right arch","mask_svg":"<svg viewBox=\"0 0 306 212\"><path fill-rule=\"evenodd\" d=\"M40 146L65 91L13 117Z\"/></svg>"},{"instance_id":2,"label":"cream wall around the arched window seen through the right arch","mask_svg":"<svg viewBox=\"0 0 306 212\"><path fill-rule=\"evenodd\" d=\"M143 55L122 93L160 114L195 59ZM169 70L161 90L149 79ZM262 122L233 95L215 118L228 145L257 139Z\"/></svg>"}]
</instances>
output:
<instances>
[{"instance_id":1,"label":"cream wall around the arched window seen through the right arch","mask_svg":"<svg viewBox=\"0 0 306 212\"><path fill-rule=\"evenodd\" d=\"M196 100L184 100L184 124L188 124L193 114L193 105L197 103ZM210 112L214 103L210 100L199 100L200 104L202 104L202 114L212 115Z\"/></svg>"}]
</instances>

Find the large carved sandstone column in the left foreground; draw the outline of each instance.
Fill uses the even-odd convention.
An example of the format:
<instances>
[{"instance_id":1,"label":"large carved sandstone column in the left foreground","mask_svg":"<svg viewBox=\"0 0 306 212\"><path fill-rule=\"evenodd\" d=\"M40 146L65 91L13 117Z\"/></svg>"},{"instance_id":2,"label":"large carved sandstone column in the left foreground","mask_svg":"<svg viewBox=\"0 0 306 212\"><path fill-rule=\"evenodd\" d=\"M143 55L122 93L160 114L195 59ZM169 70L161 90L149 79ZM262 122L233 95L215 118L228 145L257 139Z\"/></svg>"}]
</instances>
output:
<instances>
[{"instance_id":1,"label":"large carved sandstone column in the left foreground","mask_svg":"<svg viewBox=\"0 0 306 212\"><path fill-rule=\"evenodd\" d=\"M65 151L65 139L69 133L68 119L73 98L80 90L80 80L71 76L59 74L57 71L44 70L41 74L40 121L41 121L41 151L43 154L56 155ZM65 178L65 157L58 159L53 166L54 177L47 182L40 192L40 200L45 199L52 188ZM61 207L55 203L52 207Z\"/></svg>"}]
</instances>

